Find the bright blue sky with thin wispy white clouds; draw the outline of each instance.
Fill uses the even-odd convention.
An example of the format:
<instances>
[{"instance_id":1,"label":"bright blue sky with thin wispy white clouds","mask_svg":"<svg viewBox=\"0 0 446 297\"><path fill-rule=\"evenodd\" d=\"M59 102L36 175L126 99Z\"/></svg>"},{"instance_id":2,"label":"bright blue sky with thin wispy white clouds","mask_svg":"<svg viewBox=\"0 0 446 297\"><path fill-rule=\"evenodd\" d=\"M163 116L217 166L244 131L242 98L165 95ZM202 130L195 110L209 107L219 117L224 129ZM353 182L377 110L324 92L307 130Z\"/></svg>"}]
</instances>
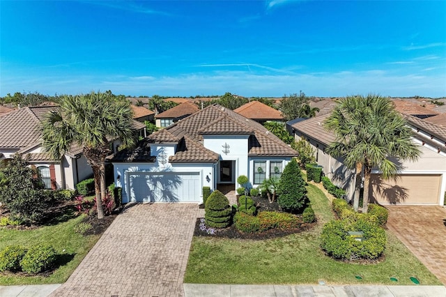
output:
<instances>
[{"instance_id":1,"label":"bright blue sky with thin wispy white clouds","mask_svg":"<svg viewBox=\"0 0 446 297\"><path fill-rule=\"evenodd\" d=\"M446 96L446 1L3 1L0 96Z\"/></svg>"}]
</instances>

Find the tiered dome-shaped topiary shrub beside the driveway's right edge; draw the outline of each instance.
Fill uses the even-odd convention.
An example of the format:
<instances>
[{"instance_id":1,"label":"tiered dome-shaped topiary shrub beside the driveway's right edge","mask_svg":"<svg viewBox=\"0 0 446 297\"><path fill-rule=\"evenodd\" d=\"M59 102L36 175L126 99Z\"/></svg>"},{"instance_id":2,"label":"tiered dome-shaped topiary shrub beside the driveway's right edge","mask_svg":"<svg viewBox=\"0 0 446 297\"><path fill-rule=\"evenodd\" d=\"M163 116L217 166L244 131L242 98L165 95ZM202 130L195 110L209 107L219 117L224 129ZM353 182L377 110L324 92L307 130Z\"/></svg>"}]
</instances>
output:
<instances>
[{"instance_id":1,"label":"tiered dome-shaped topiary shrub beside the driveway's right edge","mask_svg":"<svg viewBox=\"0 0 446 297\"><path fill-rule=\"evenodd\" d=\"M231 224L232 211L229 200L219 190L215 190L209 195L204 210L206 226L226 228Z\"/></svg>"}]
</instances>

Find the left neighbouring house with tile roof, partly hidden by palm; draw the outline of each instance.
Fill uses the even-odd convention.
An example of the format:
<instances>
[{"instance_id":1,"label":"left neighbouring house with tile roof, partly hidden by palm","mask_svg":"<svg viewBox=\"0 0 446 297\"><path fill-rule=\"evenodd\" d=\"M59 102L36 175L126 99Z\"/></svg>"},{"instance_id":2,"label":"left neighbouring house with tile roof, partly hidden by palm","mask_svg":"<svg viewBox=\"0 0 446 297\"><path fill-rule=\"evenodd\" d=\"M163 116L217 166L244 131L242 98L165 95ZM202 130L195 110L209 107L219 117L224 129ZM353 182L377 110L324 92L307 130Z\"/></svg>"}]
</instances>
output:
<instances>
[{"instance_id":1,"label":"left neighbouring house with tile roof, partly hidden by palm","mask_svg":"<svg viewBox=\"0 0 446 297\"><path fill-rule=\"evenodd\" d=\"M45 119L45 114L56 108L54 105L24 107L0 116L0 166L19 153L31 166L38 169L45 188L75 189L79 181L93 174L82 153L82 147L73 145L61 160L54 160L45 153L42 146L40 124ZM141 131L145 125L134 121L134 128ZM116 151L119 144L121 142L116 140L110 144L110 148Z\"/></svg>"}]
</instances>

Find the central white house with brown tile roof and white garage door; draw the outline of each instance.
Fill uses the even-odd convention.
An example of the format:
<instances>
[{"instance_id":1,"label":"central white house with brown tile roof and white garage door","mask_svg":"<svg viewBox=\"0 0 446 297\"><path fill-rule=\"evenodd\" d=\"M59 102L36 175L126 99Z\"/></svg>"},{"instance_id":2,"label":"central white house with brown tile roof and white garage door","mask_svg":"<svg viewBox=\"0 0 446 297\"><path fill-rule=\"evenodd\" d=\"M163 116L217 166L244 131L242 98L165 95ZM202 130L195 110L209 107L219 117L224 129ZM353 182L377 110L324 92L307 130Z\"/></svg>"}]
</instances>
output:
<instances>
[{"instance_id":1,"label":"central white house with brown tile roof and white garage door","mask_svg":"<svg viewBox=\"0 0 446 297\"><path fill-rule=\"evenodd\" d=\"M123 202L202 201L203 186L215 190L246 175L249 187L279 177L297 155L266 128L220 105L210 105L149 135L132 151L116 153L115 183Z\"/></svg>"}]
</instances>

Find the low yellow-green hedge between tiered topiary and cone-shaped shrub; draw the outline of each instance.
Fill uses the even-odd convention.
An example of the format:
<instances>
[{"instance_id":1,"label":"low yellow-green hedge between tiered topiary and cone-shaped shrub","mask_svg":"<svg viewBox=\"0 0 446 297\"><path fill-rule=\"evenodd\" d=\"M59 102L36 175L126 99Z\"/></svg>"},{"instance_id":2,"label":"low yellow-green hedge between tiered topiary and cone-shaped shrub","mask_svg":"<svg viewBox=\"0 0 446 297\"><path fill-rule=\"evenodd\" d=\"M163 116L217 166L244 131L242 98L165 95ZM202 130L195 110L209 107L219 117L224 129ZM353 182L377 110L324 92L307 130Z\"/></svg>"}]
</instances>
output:
<instances>
[{"instance_id":1,"label":"low yellow-green hedge between tiered topiary and cone-shaped shrub","mask_svg":"<svg viewBox=\"0 0 446 297\"><path fill-rule=\"evenodd\" d=\"M234 215L236 229L245 233L263 232L269 229L293 229L302 225L302 219L291 213L262 211L258 215L237 212Z\"/></svg>"}]
</instances>

